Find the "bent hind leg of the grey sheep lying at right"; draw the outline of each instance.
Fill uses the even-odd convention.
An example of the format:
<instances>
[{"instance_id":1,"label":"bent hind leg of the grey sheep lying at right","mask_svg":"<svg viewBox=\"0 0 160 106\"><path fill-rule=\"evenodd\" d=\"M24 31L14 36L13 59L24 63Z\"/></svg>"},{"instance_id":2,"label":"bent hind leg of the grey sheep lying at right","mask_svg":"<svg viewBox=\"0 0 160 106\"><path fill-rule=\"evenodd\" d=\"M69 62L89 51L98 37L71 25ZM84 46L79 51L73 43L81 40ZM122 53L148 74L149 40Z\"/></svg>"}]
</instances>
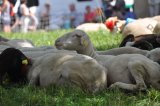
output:
<instances>
[{"instance_id":1,"label":"bent hind leg of the grey sheep lying at right","mask_svg":"<svg viewBox=\"0 0 160 106\"><path fill-rule=\"evenodd\" d=\"M136 81L136 84L126 84L123 82L116 82L110 86L110 88L121 88L121 89L126 89L130 91L145 91L146 90L146 85L143 79L143 75L145 72L144 65L142 62L130 62L128 64L129 71L131 72L133 78Z\"/></svg>"}]
</instances>

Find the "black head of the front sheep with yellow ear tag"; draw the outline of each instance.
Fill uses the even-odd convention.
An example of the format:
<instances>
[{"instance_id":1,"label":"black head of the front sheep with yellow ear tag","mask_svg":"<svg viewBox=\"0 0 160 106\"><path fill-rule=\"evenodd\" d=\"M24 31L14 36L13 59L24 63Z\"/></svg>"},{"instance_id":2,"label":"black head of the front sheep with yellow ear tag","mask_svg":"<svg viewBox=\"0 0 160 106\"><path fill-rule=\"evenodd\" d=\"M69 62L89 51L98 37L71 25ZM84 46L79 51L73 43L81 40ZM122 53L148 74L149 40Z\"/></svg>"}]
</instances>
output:
<instances>
[{"instance_id":1,"label":"black head of the front sheep with yellow ear tag","mask_svg":"<svg viewBox=\"0 0 160 106\"><path fill-rule=\"evenodd\" d=\"M27 70L30 66L29 59L18 49L7 48L0 54L0 83L8 74L12 83L24 83L27 81Z\"/></svg>"}]
</instances>

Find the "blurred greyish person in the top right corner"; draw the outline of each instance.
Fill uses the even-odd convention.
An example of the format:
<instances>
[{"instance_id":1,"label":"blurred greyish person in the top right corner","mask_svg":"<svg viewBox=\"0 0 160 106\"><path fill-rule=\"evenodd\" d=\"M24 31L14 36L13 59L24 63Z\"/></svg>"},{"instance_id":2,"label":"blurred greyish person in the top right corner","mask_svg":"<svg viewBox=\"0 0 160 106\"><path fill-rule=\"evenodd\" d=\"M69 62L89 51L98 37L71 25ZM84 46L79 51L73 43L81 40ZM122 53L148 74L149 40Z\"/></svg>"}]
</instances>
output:
<instances>
[{"instance_id":1,"label":"blurred greyish person in the top right corner","mask_svg":"<svg viewBox=\"0 0 160 106\"><path fill-rule=\"evenodd\" d=\"M160 5L160 0L148 0L149 4L149 13L150 16L156 16L159 14L159 5Z\"/></svg>"}]
</instances>

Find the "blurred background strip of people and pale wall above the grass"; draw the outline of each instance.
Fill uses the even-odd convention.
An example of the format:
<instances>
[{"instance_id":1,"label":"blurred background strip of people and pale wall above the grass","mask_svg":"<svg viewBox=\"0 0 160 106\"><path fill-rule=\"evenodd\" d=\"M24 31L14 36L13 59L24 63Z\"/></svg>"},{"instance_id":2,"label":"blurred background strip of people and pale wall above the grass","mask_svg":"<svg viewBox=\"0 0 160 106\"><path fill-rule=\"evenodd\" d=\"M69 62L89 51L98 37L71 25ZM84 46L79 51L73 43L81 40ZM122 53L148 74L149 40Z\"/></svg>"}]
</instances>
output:
<instances>
[{"instance_id":1,"label":"blurred background strip of people and pale wall above the grass","mask_svg":"<svg viewBox=\"0 0 160 106\"><path fill-rule=\"evenodd\" d=\"M0 0L0 30L28 32L76 28L107 18L160 14L160 0Z\"/></svg>"}]
</instances>

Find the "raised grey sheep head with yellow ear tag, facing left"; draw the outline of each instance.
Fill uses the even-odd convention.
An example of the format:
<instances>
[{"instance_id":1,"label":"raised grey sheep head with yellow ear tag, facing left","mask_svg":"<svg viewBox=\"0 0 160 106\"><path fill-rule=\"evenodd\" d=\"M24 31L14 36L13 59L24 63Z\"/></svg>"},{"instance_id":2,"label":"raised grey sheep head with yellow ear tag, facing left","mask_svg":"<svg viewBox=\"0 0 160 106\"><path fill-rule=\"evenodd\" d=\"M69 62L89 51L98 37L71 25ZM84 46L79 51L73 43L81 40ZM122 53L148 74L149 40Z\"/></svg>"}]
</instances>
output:
<instances>
[{"instance_id":1,"label":"raised grey sheep head with yellow ear tag, facing left","mask_svg":"<svg viewBox=\"0 0 160 106\"><path fill-rule=\"evenodd\" d=\"M88 35L82 30L75 30L59 37L55 41L57 49L80 51L90 44Z\"/></svg>"}]
</instances>

